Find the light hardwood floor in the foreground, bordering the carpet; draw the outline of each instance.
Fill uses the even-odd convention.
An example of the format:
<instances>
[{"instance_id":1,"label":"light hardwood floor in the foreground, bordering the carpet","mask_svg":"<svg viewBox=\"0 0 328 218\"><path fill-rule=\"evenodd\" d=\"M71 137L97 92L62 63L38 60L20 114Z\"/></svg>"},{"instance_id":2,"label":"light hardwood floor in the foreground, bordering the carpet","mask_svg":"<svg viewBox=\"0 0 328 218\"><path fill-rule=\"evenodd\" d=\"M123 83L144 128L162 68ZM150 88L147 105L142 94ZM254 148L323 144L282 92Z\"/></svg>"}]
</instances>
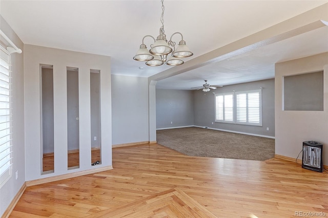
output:
<instances>
[{"instance_id":1,"label":"light hardwood floor in the foreground, bordering the carpet","mask_svg":"<svg viewBox=\"0 0 328 218\"><path fill-rule=\"evenodd\" d=\"M328 174L278 158L191 157L153 144L114 148L113 168L27 187L10 218L328 216Z\"/></svg>"}]
</instances>

